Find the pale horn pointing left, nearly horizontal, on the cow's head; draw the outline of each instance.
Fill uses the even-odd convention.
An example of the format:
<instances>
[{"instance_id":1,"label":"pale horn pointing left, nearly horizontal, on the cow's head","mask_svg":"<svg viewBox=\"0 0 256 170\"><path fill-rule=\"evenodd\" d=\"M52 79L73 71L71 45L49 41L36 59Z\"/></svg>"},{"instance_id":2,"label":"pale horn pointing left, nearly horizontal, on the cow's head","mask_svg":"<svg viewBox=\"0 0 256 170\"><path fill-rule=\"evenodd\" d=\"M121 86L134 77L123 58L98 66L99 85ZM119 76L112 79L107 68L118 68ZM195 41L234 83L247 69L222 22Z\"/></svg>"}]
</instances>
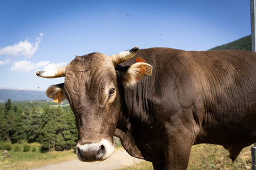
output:
<instances>
[{"instance_id":1,"label":"pale horn pointing left, nearly horizontal, on the cow's head","mask_svg":"<svg viewBox=\"0 0 256 170\"><path fill-rule=\"evenodd\" d=\"M49 70L46 70L46 71L38 71L38 72L36 72L36 75L38 77L43 77L43 78L65 77L66 67L67 66L58 67L56 69L49 69Z\"/></svg>"}]
</instances>

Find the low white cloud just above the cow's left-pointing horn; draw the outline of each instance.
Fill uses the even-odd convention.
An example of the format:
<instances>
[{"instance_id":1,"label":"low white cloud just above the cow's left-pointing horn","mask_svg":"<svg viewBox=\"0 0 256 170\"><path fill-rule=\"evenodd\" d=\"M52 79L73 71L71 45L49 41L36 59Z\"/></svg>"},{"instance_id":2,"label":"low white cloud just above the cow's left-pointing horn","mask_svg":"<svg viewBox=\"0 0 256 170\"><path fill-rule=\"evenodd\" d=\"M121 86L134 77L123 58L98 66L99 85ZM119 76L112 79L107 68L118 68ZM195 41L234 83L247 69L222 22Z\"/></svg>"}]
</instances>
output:
<instances>
[{"instance_id":1,"label":"low white cloud just above the cow's left-pointing horn","mask_svg":"<svg viewBox=\"0 0 256 170\"><path fill-rule=\"evenodd\" d=\"M61 67L65 65L65 62L60 62L60 63L50 63L48 61L45 62L38 62L38 63L33 63L27 60L23 60L20 62L14 62L13 66L11 67L11 71L13 72L31 72L33 70L39 69L44 67L44 70L46 69L53 69L56 67Z\"/></svg>"}]
</instances>

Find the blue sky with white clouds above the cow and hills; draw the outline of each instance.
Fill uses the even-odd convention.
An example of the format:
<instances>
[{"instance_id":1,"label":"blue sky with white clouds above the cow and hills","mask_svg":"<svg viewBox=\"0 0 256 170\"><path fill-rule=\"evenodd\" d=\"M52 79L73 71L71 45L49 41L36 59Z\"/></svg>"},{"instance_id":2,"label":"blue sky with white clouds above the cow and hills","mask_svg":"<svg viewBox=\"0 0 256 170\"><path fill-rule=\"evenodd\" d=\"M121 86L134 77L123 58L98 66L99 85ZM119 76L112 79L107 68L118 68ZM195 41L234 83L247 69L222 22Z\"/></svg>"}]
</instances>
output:
<instances>
[{"instance_id":1,"label":"blue sky with white clouds above the cow and hills","mask_svg":"<svg viewBox=\"0 0 256 170\"><path fill-rule=\"evenodd\" d=\"M208 50L250 35L250 0L0 1L0 89L64 81L36 70L134 46Z\"/></svg>"}]
</instances>

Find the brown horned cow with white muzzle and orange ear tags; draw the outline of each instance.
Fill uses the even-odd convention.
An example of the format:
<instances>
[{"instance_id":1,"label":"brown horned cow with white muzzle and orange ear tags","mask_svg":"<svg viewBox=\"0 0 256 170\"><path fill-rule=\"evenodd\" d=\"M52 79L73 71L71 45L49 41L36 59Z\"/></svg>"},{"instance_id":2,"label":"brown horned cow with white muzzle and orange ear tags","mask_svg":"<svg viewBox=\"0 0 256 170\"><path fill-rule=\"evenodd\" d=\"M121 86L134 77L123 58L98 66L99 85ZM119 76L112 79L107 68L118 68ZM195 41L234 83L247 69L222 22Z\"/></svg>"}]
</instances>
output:
<instances>
[{"instance_id":1,"label":"brown horned cow with white muzzle and orange ear tags","mask_svg":"<svg viewBox=\"0 0 256 170\"><path fill-rule=\"evenodd\" d=\"M149 64L135 63L137 57ZM46 94L58 102L68 98L81 161L110 157L113 135L154 169L187 169L196 144L223 145L234 161L256 142L255 52L134 47L75 57L68 67L36 74L65 76Z\"/></svg>"}]
</instances>

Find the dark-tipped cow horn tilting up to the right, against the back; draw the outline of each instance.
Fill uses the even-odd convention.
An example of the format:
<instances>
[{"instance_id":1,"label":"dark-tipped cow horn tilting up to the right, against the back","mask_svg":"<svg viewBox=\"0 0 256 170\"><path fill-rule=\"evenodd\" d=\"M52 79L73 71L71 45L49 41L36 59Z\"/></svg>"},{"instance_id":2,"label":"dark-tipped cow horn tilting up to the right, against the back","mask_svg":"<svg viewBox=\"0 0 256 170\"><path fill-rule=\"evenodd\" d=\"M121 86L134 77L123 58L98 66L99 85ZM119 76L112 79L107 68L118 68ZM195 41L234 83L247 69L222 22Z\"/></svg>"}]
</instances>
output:
<instances>
[{"instance_id":1,"label":"dark-tipped cow horn tilting up to the right, against the back","mask_svg":"<svg viewBox=\"0 0 256 170\"><path fill-rule=\"evenodd\" d=\"M112 57L114 66L117 66L118 64L130 60L132 57L134 57L138 50L139 47L133 47L131 50L120 52L117 55L110 55L110 57Z\"/></svg>"}]
</instances>

